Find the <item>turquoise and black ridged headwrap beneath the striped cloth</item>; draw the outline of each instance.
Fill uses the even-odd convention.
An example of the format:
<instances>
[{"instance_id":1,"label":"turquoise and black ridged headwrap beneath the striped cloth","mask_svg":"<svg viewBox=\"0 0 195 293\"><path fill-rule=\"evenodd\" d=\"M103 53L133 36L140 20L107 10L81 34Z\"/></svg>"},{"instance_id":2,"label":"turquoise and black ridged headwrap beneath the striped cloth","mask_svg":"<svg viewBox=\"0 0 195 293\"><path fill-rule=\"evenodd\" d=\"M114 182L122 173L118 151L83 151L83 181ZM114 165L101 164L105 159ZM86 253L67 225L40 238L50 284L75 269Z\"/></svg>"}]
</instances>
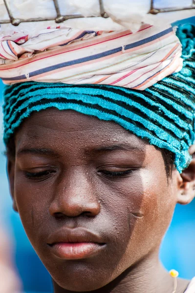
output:
<instances>
[{"instance_id":1,"label":"turquoise and black ridged headwrap beneath the striped cloth","mask_svg":"<svg viewBox=\"0 0 195 293\"><path fill-rule=\"evenodd\" d=\"M175 155L179 172L195 141L195 27L179 29L184 66L144 91L112 85L28 82L5 87L4 142L32 112L55 107L114 121ZM188 42L186 41L188 39Z\"/></svg>"}]
</instances>

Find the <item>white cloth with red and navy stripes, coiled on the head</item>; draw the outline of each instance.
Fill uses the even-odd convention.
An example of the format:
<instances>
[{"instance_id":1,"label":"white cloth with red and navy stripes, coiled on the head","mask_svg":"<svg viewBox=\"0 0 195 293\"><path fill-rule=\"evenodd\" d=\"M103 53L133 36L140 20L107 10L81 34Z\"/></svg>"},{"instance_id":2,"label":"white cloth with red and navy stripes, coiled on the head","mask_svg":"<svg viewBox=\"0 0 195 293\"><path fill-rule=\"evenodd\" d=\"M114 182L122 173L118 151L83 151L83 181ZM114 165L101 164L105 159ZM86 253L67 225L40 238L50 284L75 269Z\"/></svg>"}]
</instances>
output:
<instances>
[{"instance_id":1,"label":"white cloth with red and navy stripes, coiled on the head","mask_svg":"<svg viewBox=\"0 0 195 293\"><path fill-rule=\"evenodd\" d=\"M181 68L181 43L170 25L143 24L136 33L65 26L29 34L0 31L5 84L109 84L144 90Z\"/></svg>"}]
</instances>

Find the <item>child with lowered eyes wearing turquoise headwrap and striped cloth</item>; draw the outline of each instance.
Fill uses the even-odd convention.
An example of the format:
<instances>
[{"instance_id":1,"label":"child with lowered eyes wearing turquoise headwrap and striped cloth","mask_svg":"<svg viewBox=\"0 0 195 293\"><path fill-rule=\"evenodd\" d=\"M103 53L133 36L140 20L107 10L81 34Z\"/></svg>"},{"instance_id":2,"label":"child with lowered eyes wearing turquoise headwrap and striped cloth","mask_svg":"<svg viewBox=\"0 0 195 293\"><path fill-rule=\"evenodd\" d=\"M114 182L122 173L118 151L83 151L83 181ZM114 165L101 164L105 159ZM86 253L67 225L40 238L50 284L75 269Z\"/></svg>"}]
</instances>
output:
<instances>
[{"instance_id":1,"label":"child with lowered eyes wearing turquoise headwrap and striped cloth","mask_svg":"<svg viewBox=\"0 0 195 293\"><path fill-rule=\"evenodd\" d=\"M13 206L54 292L195 293L158 257L195 196L195 27L1 35Z\"/></svg>"}]
</instances>

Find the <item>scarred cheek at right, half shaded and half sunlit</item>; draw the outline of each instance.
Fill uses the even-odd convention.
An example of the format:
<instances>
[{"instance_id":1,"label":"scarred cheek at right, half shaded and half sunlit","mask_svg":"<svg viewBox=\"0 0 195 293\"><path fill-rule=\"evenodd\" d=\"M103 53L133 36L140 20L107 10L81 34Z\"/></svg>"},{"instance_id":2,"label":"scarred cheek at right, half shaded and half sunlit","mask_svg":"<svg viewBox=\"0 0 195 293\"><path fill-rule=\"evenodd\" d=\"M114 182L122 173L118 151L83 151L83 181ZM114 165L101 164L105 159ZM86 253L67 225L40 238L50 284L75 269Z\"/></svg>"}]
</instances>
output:
<instances>
[{"instance_id":1,"label":"scarred cheek at right, half shaded and half sunlit","mask_svg":"<svg viewBox=\"0 0 195 293\"><path fill-rule=\"evenodd\" d=\"M173 190L166 172L156 168L143 169L111 189L108 206L124 249L121 263L129 267L160 246L173 216Z\"/></svg>"}]
</instances>

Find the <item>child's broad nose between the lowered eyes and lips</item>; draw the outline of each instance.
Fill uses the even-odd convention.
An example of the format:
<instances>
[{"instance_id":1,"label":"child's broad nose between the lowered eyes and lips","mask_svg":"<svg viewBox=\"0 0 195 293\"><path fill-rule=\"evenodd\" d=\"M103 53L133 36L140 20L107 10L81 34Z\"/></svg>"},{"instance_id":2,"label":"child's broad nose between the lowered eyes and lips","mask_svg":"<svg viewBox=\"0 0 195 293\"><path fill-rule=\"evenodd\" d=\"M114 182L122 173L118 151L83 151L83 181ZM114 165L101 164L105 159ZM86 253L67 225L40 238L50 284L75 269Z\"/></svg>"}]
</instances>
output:
<instances>
[{"instance_id":1,"label":"child's broad nose between the lowered eyes and lips","mask_svg":"<svg viewBox=\"0 0 195 293\"><path fill-rule=\"evenodd\" d=\"M85 174L69 174L56 183L49 213L54 217L78 217L81 214L95 217L100 212L100 203L95 193L93 184Z\"/></svg>"}]
</instances>

